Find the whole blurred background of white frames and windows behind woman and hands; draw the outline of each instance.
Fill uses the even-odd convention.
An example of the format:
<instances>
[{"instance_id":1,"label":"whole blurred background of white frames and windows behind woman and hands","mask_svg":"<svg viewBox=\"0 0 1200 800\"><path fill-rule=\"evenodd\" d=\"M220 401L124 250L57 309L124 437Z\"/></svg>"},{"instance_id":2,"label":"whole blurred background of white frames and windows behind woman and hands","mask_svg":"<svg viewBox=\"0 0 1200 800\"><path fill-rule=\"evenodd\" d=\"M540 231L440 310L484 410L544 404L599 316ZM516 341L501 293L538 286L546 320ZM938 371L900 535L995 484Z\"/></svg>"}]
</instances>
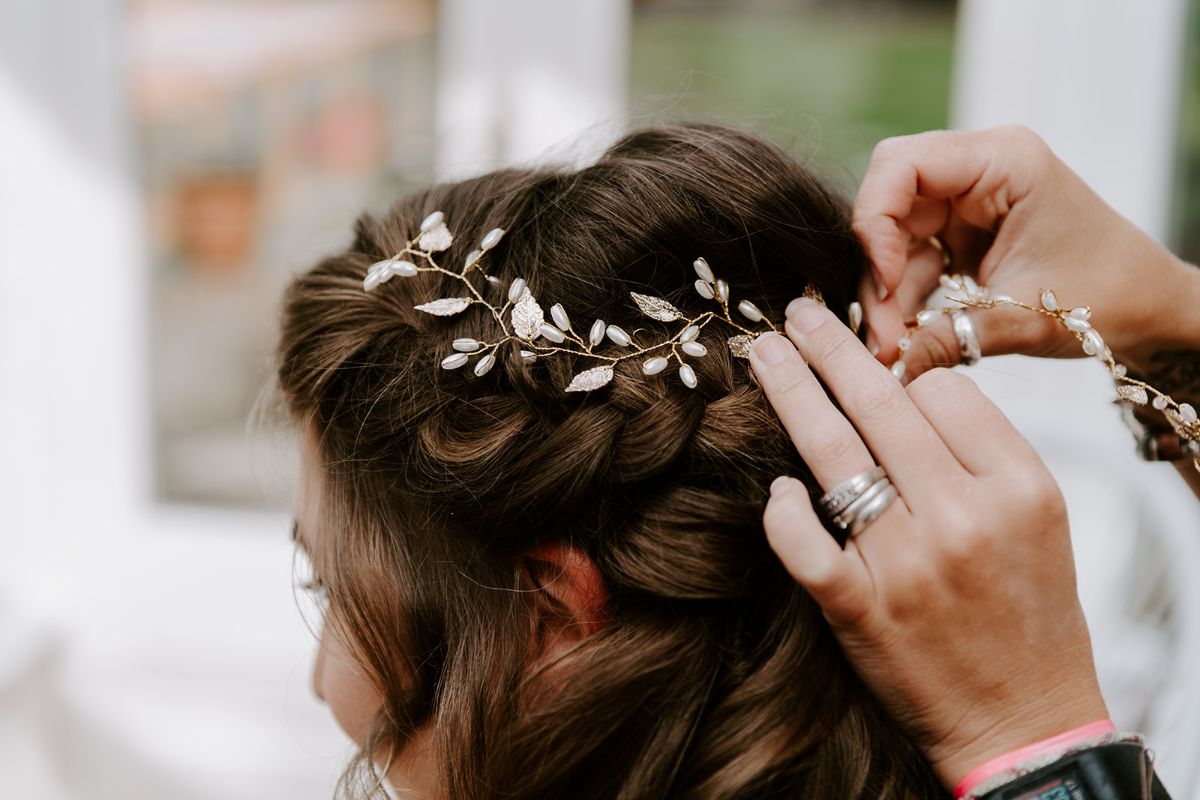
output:
<instances>
[{"instance_id":1,"label":"whole blurred background of white frames and windows behind woman and hands","mask_svg":"<svg viewBox=\"0 0 1200 800\"><path fill-rule=\"evenodd\" d=\"M264 391L362 210L694 119L851 194L881 138L1018 121L1196 260L1196 5L0 0L0 796L330 796ZM1094 363L968 374L1063 485L1117 723L1200 799L1198 505Z\"/></svg>"}]
</instances>

